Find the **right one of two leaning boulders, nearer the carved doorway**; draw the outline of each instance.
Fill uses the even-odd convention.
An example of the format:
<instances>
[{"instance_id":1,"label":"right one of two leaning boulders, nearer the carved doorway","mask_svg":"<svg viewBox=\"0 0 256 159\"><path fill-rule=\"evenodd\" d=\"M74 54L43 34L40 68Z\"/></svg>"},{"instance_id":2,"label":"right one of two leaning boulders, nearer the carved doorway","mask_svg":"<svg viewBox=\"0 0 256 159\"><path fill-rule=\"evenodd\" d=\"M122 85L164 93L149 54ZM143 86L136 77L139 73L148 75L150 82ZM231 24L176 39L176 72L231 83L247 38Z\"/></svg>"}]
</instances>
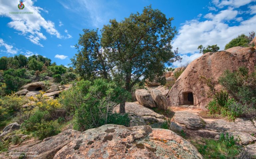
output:
<instances>
[{"instance_id":1,"label":"right one of two leaning boulders, nearer the carved doorway","mask_svg":"<svg viewBox=\"0 0 256 159\"><path fill-rule=\"evenodd\" d=\"M150 91L150 95L152 96L153 100L156 103L156 107L158 109L167 110L168 103L165 99L165 96L161 93L158 89L152 89Z\"/></svg>"}]
</instances>

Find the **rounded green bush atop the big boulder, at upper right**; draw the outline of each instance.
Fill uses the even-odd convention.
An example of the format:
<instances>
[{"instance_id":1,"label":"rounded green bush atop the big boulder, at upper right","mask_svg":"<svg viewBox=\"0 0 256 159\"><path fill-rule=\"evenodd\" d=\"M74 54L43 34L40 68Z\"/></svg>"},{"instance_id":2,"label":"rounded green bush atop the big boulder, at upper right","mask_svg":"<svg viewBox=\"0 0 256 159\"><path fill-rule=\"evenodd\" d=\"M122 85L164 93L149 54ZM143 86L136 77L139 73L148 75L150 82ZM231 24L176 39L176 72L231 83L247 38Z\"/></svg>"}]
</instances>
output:
<instances>
[{"instance_id":1,"label":"rounded green bush atop the big boulder, at upper right","mask_svg":"<svg viewBox=\"0 0 256 159\"><path fill-rule=\"evenodd\" d=\"M235 47L235 46L242 46L242 47L249 47L249 43L251 40L245 34L238 35L238 37L232 39L229 43L226 44L225 50Z\"/></svg>"}]
</instances>

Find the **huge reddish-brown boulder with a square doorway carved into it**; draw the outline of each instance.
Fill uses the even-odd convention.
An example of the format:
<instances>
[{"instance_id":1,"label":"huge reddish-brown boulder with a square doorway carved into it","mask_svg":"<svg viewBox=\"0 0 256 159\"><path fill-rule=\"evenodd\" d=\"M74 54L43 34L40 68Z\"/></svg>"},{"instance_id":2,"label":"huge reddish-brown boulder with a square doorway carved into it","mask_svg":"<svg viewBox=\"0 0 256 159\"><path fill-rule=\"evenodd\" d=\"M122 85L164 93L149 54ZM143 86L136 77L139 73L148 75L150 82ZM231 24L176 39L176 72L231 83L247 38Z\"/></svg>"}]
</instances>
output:
<instances>
[{"instance_id":1,"label":"huge reddish-brown boulder with a square doorway carved into it","mask_svg":"<svg viewBox=\"0 0 256 159\"><path fill-rule=\"evenodd\" d=\"M167 95L168 106L194 105L206 109L205 106L211 100L207 97L209 87L200 77L212 78L213 82L218 83L218 78L227 69L234 71L244 66L252 72L256 64L255 48L236 47L226 51L208 52L195 59L172 86ZM222 87L216 84L215 89L219 91Z\"/></svg>"}]
</instances>

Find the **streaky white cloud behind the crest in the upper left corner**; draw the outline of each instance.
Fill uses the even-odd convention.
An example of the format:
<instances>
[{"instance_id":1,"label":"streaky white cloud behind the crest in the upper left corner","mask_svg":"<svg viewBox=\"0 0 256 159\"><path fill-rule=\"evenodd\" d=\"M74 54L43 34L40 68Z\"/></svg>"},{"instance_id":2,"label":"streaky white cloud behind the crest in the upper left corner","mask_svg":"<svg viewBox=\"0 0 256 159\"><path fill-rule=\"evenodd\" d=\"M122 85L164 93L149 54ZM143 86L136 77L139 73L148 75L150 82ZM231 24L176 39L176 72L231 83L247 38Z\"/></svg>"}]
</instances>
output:
<instances>
[{"instance_id":1,"label":"streaky white cloud behind the crest in the upper left corner","mask_svg":"<svg viewBox=\"0 0 256 159\"><path fill-rule=\"evenodd\" d=\"M19 12L17 8L18 1L1 1L0 16L9 17L11 22L8 23L9 27L19 31L19 34L26 36L32 43L42 46L40 40L46 39L46 36L41 32L41 28L44 28L50 35L54 35L57 38L62 38L62 35L55 28L55 24L52 21L45 20L40 14L41 11L45 11L40 7L34 6L32 0L26 0L24 2L25 8L22 12L33 12L33 14L21 15L10 14L10 12Z\"/></svg>"}]
</instances>

